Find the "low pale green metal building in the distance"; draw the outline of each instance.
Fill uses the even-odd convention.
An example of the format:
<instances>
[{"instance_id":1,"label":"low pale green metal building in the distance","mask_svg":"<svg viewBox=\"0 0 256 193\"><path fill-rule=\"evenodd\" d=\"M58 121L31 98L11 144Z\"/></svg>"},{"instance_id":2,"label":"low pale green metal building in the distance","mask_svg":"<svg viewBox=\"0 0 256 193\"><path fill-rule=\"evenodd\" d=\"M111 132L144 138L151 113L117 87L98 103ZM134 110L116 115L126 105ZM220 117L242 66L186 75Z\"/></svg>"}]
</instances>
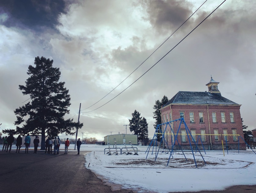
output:
<instances>
[{"instance_id":1,"label":"low pale green metal building in the distance","mask_svg":"<svg viewBox=\"0 0 256 193\"><path fill-rule=\"evenodd\" d=\"M125 144L129 144L129 141L133 145L138 145L138 135L131 135L131 134L116 134L116 135L107 135L104 137L105 145L108 145L108 142L110 142L110 145L114 145L116 141L116 145L123 145L123 142Z\"/></svg>"}]
</instances>

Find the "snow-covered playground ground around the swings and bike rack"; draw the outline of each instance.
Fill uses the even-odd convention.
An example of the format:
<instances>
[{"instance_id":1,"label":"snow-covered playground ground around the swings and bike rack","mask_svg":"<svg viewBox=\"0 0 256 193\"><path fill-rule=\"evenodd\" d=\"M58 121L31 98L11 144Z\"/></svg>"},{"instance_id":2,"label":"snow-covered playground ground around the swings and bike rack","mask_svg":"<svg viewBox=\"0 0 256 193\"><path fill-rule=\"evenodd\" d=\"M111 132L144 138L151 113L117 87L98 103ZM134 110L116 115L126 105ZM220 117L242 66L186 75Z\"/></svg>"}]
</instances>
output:
<instances>
[{"instance_id":1,"label":"snow-covered playground ground around the swings and bike rack","mask_svg":"<svg viewBox=\"0 0 256 193\"><path fill-rule=\"evenodd\" d=\"M127 145L128 147L129 145ZM108 146L83 145L81 150L92 151L85 156L85 167L93 171L114 190L120 187L137 192L175 192L223 190L233 185L256 184L256 154L247 151L202 151L195 154L197 168L191 152L174 152L167 165L170 153L161 153L155 161L155 151L148 153L148 146L138 148L138 155L104 154ZM112 146L113 147L113 146ZM124 146L117 146L122 148ZM254 150L255 151L255 150ZM126 151L124 151L126 152ZM256 151L255 151L256 152ZM90 163L90 164L89 164ZM118 186L115 186L118 185Z\"/></svg>"}]
</instances>

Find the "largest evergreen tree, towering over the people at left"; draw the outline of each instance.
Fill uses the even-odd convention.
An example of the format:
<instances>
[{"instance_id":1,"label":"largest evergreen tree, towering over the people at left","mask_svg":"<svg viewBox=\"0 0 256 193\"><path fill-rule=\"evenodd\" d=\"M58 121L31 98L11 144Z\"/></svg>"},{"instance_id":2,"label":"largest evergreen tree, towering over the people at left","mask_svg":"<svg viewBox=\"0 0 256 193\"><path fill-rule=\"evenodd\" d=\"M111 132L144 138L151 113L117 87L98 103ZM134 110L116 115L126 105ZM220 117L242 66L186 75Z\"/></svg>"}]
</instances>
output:
<instances>
[{"instance_id":1,"label":"largest evergreen tree, towering over the people at left","mask_svg":"<svg viewBox=\"0 0 256 193\"><path fill-rule=\"evenodd\" d=\"M15 125L23 123L22 127L16 126L15 134L42 135L41 149L45 150L45 136L74 135L72 130L82 128L83 124L73 119L64 120L64 115L69 114L70 95L64 87L65 82L59 82L60 69L53 67L53 60L38 56L34 65L28 66L26 86L19 85L31 102L14 111Z\"/></svg>"}]
</instances>

